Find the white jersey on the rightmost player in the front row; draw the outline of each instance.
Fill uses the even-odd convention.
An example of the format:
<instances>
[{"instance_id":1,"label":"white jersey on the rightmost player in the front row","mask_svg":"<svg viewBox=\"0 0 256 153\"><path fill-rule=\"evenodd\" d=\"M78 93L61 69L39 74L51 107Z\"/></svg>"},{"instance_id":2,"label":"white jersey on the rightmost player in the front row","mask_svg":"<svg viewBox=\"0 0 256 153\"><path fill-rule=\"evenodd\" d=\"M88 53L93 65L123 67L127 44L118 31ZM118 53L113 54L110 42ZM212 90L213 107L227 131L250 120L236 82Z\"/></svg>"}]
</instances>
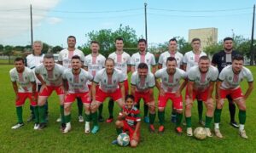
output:
<instances>
[{"instance_id":1,"label":"white jersey on the rightmost player in the front row","mask_svg":"<svg viewBox=\"0 0 256 153\"><path fill-rule=\"evenodd\" d=\"M252 72L246 67L242 67L239 74L235 74L232 70L232 65L224 67L218 76L218 80L222 81L221 88L236 89L240 87L240 82L243 78L247 79L247 82L253 82Z\"/></svg>"}]
</instances>

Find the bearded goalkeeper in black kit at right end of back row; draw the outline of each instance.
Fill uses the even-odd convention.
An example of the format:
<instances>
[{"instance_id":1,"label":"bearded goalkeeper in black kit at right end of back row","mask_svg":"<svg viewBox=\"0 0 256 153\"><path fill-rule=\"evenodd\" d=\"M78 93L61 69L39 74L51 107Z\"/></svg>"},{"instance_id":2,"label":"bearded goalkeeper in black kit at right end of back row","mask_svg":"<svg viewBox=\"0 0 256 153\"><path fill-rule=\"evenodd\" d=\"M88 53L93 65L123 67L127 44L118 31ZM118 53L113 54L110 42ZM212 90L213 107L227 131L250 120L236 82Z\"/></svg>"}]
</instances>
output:
<instances>
[{"instance_id":1,"label":"bearded goalkeeper in black kit at right end of back row","mask_svg":"<svg viewBox=\"0 0 256 153\"><path fill-rule=\"evenodd\" d=\"M232 57L236 54L239 54L236 50L233 50L233 38L225 37L224 38L224 50L219 51L216 54L213 54L212 65L217 65L218 72L220 73L225 66L232 65ZM236 105L233 103L230 95L227 95L229 100L229 110L230 110L230 125L232 127L238 128L238 124L235 121L236 115Z\"/></svg>"}]
</instances>

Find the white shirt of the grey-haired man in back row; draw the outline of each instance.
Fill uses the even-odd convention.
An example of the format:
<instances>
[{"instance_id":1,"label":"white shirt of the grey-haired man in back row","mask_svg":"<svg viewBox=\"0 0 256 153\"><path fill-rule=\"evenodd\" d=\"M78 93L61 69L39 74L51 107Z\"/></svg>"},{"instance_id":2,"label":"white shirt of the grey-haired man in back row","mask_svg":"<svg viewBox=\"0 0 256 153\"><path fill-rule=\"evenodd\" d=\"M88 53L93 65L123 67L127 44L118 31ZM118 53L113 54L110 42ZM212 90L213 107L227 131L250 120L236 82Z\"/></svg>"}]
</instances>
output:
<instances>
[{"instance_id":1,"label":"white shirt of the grey-haired man in back row","mask_svg":"<svg viewBox=\"0 0 256 153\"><path fill-rule=\"evenodd\" d=\"M34 54L29 54L26 56L26 66L30 69L33 70L33 72L35 73L35 68L36 66L42 64L44 61L44 54L41 54L41 55L34 55ZM37 84L41 84L41 82L38 80L38 77L36 77L36 81L37 81Z\"/></svg>"}]
</instances>

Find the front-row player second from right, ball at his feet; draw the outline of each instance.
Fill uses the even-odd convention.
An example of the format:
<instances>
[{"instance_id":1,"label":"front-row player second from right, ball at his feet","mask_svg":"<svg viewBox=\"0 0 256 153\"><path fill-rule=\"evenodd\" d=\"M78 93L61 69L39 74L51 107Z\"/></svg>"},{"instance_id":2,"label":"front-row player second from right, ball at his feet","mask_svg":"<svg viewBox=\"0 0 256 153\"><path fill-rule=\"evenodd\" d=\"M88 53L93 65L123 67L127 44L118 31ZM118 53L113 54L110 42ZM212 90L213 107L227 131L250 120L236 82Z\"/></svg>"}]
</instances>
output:
<instances>
[{"instance_id":1,"label":"front-row player second from right, ball at his feet","mask_svg":"<svg viewBox=\"0 0 256 153\"><path fill-rule=\"evenodd\" d=\"M214 110L212 92L214 89L214 83L218 79L218 69L210 65L210 59L207 56L201 56L198 65L191 67L187 75L189 79L186 90L185 110L187 135L193 135L191 126L191 109L195 98L197 98L204 101L207 107L205 127L207 137L212 137L212 133L210 130Z\"/></svg>"}]
</instances>

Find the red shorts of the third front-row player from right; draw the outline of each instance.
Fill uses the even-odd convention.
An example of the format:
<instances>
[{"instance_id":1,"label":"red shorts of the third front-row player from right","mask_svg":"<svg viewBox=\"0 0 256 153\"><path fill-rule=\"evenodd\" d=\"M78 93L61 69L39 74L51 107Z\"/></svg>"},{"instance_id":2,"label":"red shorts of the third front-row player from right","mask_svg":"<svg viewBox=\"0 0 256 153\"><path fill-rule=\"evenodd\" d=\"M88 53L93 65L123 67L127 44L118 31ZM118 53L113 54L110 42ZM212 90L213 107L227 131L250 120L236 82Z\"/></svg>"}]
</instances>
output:
<instances>
[{"instance_id":1,"label":"red shorts of the third front-row player from right","mask_svg":"<svg viewBox=\"0 0 256 153\"><path fill-rule=\"evenodd\" d=\"M180 95L179 97L176 97L175 93L166 93L165 96L158 97L158 107L166 107L166 103L168 99L172 100L173 108L176 110L182 110L183 109L183 97Z\"/></svg>"}]
</instances>

